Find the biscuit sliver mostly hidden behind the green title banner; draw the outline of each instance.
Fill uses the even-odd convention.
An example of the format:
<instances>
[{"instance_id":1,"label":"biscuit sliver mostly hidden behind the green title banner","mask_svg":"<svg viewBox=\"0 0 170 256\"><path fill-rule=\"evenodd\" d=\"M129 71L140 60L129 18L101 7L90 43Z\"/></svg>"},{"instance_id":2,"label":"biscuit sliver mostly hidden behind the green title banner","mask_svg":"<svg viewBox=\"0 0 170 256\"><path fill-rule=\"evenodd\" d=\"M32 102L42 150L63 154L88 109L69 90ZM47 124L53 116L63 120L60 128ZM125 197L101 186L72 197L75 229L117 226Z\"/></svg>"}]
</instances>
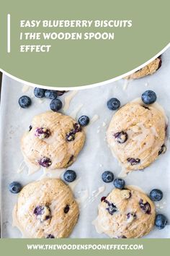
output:
<instances>
[{"instance_id":1,"label":"biscuit sliver mostly hidden behind the green title banner","mask_svg":"<svg viewBox=\"0 0 170 256\"><path fill-rule=\"evenodd\" d=\"M154 59L154 61L151 61L148 65L143 67L142 69L139 69L133 74L128 75L125 77L125 79L138 79L141 77L146 77L148 74L153 74L156 72L161 67L161 56L158 58Z\"/></svg>"}]
</instances>

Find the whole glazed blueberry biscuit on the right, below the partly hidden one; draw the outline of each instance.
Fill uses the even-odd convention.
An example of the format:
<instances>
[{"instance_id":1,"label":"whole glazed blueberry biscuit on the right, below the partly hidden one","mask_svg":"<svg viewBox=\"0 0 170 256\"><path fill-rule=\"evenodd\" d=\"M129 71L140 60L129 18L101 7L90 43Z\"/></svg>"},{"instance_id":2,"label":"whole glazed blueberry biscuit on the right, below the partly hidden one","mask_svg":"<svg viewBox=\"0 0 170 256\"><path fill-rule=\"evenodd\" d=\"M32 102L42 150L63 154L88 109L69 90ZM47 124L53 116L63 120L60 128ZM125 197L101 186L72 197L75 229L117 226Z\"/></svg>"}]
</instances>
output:
<instances>
[{"instance_id":1,"label":"whole glazed blueberry biscuit on the right, below the partly hidden one","mask_svg":"<svg viewBox=\"0 0 170 256\"><path fill-rule=\"evenodd\" d=\"M139 102L120 108L107 129L109 148L127 171L146 168L155 161L163 153L165 137L164 114Z\"/></svg>"}]
</instances>

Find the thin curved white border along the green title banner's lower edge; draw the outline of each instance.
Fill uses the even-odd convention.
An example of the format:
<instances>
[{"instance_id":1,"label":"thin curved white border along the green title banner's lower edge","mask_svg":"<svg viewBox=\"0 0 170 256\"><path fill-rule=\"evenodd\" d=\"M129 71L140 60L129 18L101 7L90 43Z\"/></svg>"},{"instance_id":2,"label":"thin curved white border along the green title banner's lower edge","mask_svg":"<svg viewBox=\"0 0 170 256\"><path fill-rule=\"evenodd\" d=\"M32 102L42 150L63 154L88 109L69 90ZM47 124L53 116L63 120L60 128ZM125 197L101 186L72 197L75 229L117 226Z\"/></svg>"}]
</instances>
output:
<instances>
[{"instance_id":1,"label":"thin curved white border along the green title banner's lower edge","mask_svg":"<svg viewBox=\"0 0 170 256\"><path fill-rule=\"evenodd\" d=\"M115 82L115 81L117 81L117 80L120 80L120 79L123 78L123 77L126 77L126 76L128 76L128 75L130 75L130 74L133 74L133 72L138 71L138 69L141 69L141 68L145 67L145 66L146 66L147 64L149 64L151 61L153 61L153 60L156 59L158 56L160 56L161 54L163 54L164 51L166 51L166 50L169 48L169 46L170 46L170 43L169 43L166 47L164 47L164 49L161 50L158 54L156 54L155 56L153 56L153 58L151 58L149 61L146 61L144 64L140 65L139 67L136 67L135 69L131 70L130 72L127 72L127 73L125 73L125 74L122 74L122 75L120 75L120 76L118 76L118 77L115 77L115 78L112 78L112 79L110 79L110 80L106 80L106 81L103 81L103 82L97 82L97 83L95 83L95 84L93 84L93 85L82 85L82 86L76 86L76 87L73 87L73 88L72 88L72 87L71 87L71 88L69 88L69 87L65 87L65 88L63 88L63 87L58 87L58 88L56 88L56 89L57 89L57 90L84 90L84 89L94 88L94 87L101 86L101 85L106 85L106 84L109 83L109 82ZM37 85L37 84L33 84L32 82L27 82L27 81L21 80L21 79L19 79L19 78L17 78L17 77L14 77L12 74L9 74L8 72L5 72L3 69L0 69L0 71L1 71L2 73L6 74L7 76L11 77L12 79L17 80L18 82L24 83L25 85L30 85L30 86L32 86L32 87L39 87L39 88L45 88L45 89L53 89L53 90L55 90L55 88L54 88L54 87L51 87L51 86Z\"/></svg>"}]
</instances>

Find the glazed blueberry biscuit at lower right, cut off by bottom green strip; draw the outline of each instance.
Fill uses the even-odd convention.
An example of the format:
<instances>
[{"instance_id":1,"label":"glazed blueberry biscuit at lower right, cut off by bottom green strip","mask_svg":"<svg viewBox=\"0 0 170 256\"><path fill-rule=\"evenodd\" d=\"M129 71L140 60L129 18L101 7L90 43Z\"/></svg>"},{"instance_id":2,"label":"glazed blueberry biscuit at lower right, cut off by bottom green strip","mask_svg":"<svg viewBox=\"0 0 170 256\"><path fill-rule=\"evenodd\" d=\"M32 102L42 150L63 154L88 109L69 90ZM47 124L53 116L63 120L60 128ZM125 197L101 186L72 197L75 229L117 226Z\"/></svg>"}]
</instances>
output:
<instances>
[{"instance_id":1,"label":"glazed blueberry biscuit at lower right, cut off by bottom green strip","mask_svg":"<svg viewBox=\"0 0 170 256\"><path fill-rule=\"evenodd\" d=\"M94 224L99 233L114 238L138 238L153 229L156 210L153 202L134 189L113 189L102 197Z\"/></svg>"}]
</instances>

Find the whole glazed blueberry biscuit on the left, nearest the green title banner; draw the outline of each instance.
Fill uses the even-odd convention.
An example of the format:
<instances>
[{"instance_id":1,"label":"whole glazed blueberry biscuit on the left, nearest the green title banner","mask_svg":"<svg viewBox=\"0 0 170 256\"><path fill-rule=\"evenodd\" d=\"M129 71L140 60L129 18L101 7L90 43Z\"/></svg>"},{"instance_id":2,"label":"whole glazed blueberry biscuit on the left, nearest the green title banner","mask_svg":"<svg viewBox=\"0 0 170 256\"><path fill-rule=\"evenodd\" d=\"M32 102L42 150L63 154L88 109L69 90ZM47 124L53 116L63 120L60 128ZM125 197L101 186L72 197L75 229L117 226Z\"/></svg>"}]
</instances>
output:
<instances>
[{"instance_id":1,"label":"whole glazed blueberry biscuit on the left, nearest the green title banner","mask_svg":"<svg viewBox=\"0 0 170 256\"><path fill-rule=\"evenodd\" d=\"M84 141L84 131L74 119L48 111L33 118L30 131L22 137L21 149L28 163L66 168L76 160Z\"/></svg>"}]
</instances>

